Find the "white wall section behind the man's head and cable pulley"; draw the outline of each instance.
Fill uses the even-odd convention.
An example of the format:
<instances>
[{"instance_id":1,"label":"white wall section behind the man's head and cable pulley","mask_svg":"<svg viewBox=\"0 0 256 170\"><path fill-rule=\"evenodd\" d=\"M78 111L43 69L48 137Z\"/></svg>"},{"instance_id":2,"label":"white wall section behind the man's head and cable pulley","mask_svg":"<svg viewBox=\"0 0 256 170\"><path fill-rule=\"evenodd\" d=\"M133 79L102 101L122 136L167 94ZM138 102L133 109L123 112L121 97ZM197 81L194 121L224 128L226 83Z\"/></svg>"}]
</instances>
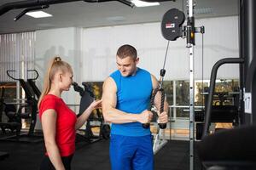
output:
<instances>
[{"instance_id":1,"label":"white wall section behind the man's head and cable pulley","mask_svg":"<svg viewBox=\"0 0 256 170\"><path fill-rule=\"evenodd\" d=\"M209 79L212 66L219 59L238 57L237 17L195 20L195 26L205 26L204 79ZM166 53L167 41L162 37L160 23L130 26L108 26L84 29L83 81L102 81L116 69L115 54L120 45L129 43L137 48L139 67L159 77ZM166 80L189 79L189 49L185 39L170 42L166 60ZM196 34L195 79L201 79L201 34ZM218 78L238 78L238 65L224 65Z\"/></svg>"}]
</instances>

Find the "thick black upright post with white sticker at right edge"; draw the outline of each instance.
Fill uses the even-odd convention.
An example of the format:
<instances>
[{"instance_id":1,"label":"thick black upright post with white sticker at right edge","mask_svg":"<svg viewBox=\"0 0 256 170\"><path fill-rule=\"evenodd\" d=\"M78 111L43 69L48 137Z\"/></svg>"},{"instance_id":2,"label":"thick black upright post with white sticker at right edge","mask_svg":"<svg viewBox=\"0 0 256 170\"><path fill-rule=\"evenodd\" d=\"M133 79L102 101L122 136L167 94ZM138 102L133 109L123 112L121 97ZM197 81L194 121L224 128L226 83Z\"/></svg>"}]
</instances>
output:
<instances>
[{"instance_id":1,"label":"thick black upright post with white sticker at right edge","mask_svg":"<svg viewBox=\"0 0 256 170\"><path fill-rule=\"evenodd\" d=\"M244 65L240 67L241 75L241 110L244 114L241 122L244 124L256 123L256 37L255 37L255 15L256 3L253 0L239 1L239 52L240 57L244 59Z\"/></svg>"}]
</instances>

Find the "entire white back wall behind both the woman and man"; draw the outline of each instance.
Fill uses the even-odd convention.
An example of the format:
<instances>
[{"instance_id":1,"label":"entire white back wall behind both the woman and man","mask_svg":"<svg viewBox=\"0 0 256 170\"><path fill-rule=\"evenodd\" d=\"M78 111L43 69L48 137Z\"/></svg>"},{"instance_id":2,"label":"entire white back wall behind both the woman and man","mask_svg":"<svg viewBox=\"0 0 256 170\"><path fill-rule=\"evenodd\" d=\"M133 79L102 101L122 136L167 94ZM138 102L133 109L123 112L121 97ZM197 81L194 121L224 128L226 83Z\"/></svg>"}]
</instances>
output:
<instances>
[{"instance_id":1,"label":"entire white back wall behind both the woman and man","mask_svg":"<svg viewBox=\"0 0 256 170\"><path fill-rule=\"evenodd\" d=\"M209 79L212 65L224 57L238 57L238 20L236 16L195 20L205 26L204 79ZM44 72L50 58L59 54L73 66L74 81L103 81L116 69L115 54L120 45L130 43L137 48L139 67L159 77L167 41L160 32L160 23L99 28L61 28L36 31L36 66L43 86ZM195 79L201 79L201 34L196 34ZM238 65L223 65L218 78L238 78ZM166 59L166 80L189 79L189 49L185 39L170 42ZM64 93L68 104L78 104L79 94Z\"/></svg>"}]
</instances>

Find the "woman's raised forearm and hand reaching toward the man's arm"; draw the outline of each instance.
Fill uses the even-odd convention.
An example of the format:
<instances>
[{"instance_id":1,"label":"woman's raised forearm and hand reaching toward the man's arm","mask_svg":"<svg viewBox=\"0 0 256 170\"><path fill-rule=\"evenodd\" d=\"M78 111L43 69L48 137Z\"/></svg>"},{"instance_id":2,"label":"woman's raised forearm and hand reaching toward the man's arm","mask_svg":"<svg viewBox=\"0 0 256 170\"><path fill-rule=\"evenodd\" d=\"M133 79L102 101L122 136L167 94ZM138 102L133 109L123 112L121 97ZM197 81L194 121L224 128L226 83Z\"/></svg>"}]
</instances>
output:
<instances>
[{"instance_id":1,"label":"woman's raised forearm and hand reaching toward the man's arm","mask_svg":"<svg viewBox=\"0 0 256 170\"><path fill-rule=\"evenodd\" d=\"M87 121L88 117L90 116L90 113L95 110L98 109L102 106L102 99L101 100L95 100L93 101L89 107L84 111L84 113L79 116L77 122L76 122L76 129L79 129L80 127L82 127L84 125L84 123Z\"/></svg>"}]
</instances>

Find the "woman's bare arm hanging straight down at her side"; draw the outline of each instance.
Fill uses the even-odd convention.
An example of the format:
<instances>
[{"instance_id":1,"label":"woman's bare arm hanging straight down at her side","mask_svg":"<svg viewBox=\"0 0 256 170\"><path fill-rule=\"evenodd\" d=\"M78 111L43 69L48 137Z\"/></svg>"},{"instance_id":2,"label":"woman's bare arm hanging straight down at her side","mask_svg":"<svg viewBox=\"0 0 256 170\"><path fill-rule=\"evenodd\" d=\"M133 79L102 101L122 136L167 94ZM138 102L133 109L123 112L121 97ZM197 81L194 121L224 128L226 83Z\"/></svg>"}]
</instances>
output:
<instances>
[{"instance_id":1,"label":"woman's bare arm hanging straight down at her side","mask_svg":"<svg viewBox=\"0 0 256 170\"><path fill-rule=\"evenodd\" d=\"M44 144L49 156L49 160L56 170L65 170L61 161L60 150L55 141L56 134L56 112L53 109L44 111L42 115L42 127L44 132Z\"/></svg>"}]
</instances>

